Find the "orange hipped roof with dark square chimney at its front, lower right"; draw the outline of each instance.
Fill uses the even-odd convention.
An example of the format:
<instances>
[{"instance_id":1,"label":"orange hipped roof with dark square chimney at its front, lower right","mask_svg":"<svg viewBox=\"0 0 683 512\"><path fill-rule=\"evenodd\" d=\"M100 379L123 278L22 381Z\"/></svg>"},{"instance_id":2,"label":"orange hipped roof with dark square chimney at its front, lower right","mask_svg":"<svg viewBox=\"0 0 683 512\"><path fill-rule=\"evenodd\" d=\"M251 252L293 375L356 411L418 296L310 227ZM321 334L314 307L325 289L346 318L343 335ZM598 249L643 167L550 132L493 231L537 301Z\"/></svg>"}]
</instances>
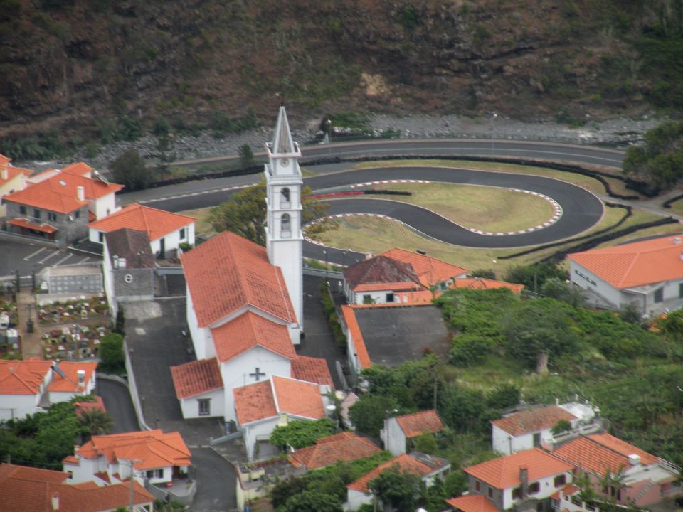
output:
<instances>
[{"instance_id":1,"label":"orange hipped roof with dark square chimney at its front, lower right","mask_svg":"<svg viewBox=\"0 0 683 512\"><path fill-rule=\"evenodd\" d=\"M571 471L573 466L542 449L533 448L526 452L498 457L476 466L466 467L463 471L496 489L507 489L519 485L519 469L522 467L529 470L531 482Z\"/></svg>"}]
</instances>

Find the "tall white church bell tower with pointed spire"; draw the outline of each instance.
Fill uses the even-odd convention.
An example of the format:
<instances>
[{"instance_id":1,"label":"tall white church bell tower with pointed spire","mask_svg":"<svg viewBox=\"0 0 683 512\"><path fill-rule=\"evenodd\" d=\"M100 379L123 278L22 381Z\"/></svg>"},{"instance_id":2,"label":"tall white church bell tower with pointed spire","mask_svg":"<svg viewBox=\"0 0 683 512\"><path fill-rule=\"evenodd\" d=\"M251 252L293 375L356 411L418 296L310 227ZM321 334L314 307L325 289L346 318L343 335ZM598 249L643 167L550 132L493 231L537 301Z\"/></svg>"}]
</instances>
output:
<instances>
[{"instance_id":1,"label":"tall white church bell tower with pointed spire","mask_svg":"<svg viewBox=\"0 0 683 512\"><path fill-rule=\"evenodd\" d=\"M266 248L268 260L282 269L300 329L304 326L302 242L301 232L301 169L299 144L292 140L285 106L280 106L272 142L265 144L268 164L266 183Z\"/></svg>"}]
</instances>

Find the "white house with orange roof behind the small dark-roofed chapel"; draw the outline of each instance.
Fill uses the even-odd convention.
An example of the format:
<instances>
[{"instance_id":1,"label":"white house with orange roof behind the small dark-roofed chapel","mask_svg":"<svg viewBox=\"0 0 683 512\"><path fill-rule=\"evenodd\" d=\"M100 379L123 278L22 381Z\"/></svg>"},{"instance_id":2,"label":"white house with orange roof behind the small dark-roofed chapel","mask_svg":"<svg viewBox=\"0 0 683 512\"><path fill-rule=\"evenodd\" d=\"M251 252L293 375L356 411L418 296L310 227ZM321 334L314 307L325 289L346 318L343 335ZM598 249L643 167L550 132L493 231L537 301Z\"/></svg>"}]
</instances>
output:
<instances>
[{"instance_id":1,"label":"white house with orange roof behind the small dark-roofed chapel","mask_svg":"<svg viewBox=\"0 0 683 512\"><path fill-rule=\"evenodd\" d=\"M88 224L90 242L103 243L106 233L129 228L144 231L152 254L176 251L181 243L194 245L196 218L132 203Z\"/></svg>"}]
</instances>

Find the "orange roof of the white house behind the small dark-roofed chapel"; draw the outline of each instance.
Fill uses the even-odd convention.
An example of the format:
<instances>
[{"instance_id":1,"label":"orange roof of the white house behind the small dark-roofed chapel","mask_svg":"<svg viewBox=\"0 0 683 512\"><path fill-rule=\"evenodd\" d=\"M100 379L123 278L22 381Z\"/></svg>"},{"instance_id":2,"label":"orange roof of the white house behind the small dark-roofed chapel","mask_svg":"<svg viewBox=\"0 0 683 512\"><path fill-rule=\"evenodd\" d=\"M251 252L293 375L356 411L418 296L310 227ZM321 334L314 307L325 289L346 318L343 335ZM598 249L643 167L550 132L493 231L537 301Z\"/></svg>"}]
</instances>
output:
<instances>
[{"instance_id":1,"label":"orange roof of the white house behind the small dark-roofed chapel","mask_svg":"<svg viewBox=\"0 0 683 512\"><path fill-rule=\"evenodd\" d=\"M122 228L130 228L147 233L149 240L158 240L169 233L178 231L194 223L196 218L180 213L171 213L157 208L149 208L132 203L121 210L88 224L88 228L111 233Z\"/></svg>"}]
</instances>

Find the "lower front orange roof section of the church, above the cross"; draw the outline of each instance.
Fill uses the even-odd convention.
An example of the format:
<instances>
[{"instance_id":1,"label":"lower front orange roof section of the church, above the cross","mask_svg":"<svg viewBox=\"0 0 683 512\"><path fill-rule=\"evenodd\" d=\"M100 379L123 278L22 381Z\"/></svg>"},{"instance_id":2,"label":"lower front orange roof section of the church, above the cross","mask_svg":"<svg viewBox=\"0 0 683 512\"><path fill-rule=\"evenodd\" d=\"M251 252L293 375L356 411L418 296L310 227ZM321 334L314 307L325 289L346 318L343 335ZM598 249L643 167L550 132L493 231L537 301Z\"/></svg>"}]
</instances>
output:
<instances>
[{"instance_id":1,"label":"lower front orange roof section of the church, above the cross","mask_svg":"<svg viewBox=\"0 0 683 512\"><path fill-rule=\"evenodd\" d=\"M287 359L297 357L287 326L275 324L252 311L246 311L228 323L211 329L211 336L219 361L229 361L255 346Z\"/></svg>"}]
</instances>

